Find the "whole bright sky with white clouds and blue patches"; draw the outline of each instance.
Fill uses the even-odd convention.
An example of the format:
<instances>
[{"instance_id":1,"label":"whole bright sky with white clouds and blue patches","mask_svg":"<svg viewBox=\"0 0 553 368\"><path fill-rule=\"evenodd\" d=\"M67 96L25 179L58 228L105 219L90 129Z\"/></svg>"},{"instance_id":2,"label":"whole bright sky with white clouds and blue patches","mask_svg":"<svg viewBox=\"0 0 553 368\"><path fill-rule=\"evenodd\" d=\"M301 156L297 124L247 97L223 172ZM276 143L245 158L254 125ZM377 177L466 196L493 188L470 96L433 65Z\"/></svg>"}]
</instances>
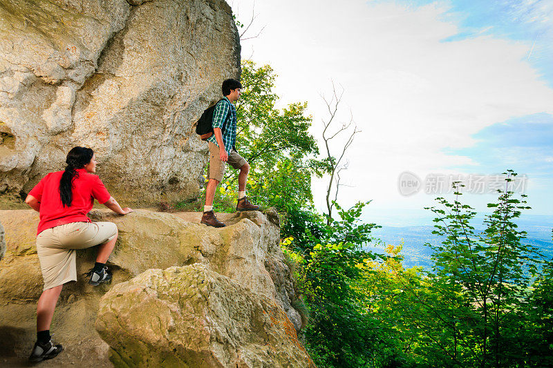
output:
<instances>
[{"instance_id":1,"label":"whole bright sky with white clouds and blue patches","mask_svg":"<svg viewBox=\"0 0 553 368\"><path fill-rule=\"evenodd\" d=\"M436 182L457 178L487 183L463 197L487 211L496 175L512 169L528 213L553 215L553 1L229 4L242 23L256 16L243 38L261 31L241 42L242 58L272 66L281 106L308 102L319 140L323 97L332 84L343 91L338 122L353 117L361 130L346 153L343 206L371 200L375 220L422 216L435 197L453 200ZM326 184L313 182L319 209Z\"/></svg>"}]
</instances>

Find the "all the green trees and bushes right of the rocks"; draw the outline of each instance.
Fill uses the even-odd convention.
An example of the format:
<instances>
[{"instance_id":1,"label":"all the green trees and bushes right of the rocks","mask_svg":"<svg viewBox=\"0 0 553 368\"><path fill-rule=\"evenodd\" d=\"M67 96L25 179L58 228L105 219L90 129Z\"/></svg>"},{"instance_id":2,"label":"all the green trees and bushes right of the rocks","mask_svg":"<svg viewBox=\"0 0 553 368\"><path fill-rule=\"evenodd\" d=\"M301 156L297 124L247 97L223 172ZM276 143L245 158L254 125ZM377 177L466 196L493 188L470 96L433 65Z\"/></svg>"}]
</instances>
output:
<instances>
[{"instance_id":1,"label":"all the green trees and bushes right of the rocks","mask_svg":"<svg viewBox=\"0 0 553 368\"><path fill-rule=\"evenodd\" d=\"M311 177L330 162L312 158L306 104L277 109L270 66L242 66L236 146L251 166L247 191L281 214L291 302L318 367L553 366L553 262L516 225L529 207L509 190L515 173L482 233L459 191L453 202L438 198L433 269L405 269L401 246L386 246L386 256L366 250L379 227L360 220L369 202L333 202L330 219L312 208ZM234 211L236 175L227 171L216 211Z\"/></svg>"}]
</instances>

